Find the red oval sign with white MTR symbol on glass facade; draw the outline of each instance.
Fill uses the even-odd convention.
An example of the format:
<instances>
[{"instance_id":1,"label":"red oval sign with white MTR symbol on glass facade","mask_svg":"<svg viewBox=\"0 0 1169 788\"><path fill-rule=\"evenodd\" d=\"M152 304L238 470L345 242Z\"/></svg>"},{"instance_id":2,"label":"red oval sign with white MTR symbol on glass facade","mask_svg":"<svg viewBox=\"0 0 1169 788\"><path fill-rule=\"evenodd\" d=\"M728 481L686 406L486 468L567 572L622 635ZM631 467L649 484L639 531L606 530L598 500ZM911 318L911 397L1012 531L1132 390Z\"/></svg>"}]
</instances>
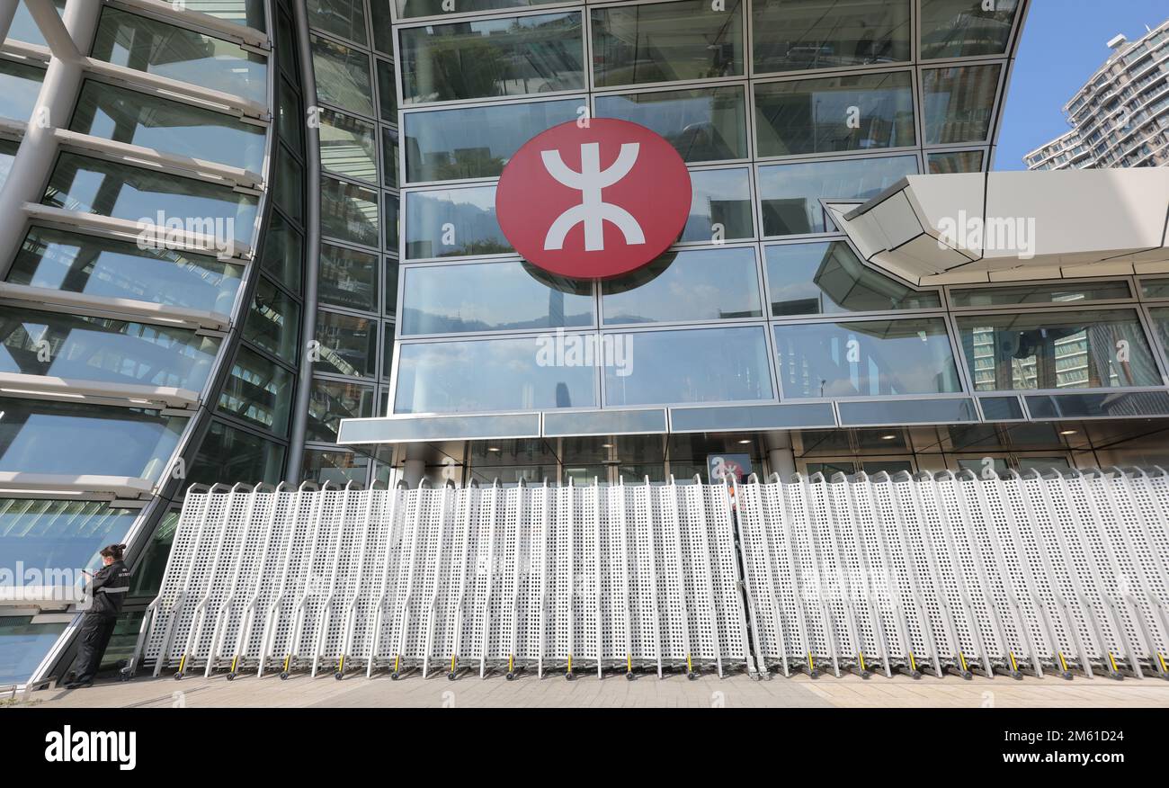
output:
<instances>
[{"instance_id":1,"label":"red oval sign with white MTR symbol on glass facade","mask_svg":"<svg viewBox=\"0 0 1169 788\"><path fill-rule=\"evenodd\" d=\"M520 255L573 278L621 276L678 240L690 172L670 143L628 120L562 123L524 144L499 177L496 216Z\"/></svg>"}]
</instances>

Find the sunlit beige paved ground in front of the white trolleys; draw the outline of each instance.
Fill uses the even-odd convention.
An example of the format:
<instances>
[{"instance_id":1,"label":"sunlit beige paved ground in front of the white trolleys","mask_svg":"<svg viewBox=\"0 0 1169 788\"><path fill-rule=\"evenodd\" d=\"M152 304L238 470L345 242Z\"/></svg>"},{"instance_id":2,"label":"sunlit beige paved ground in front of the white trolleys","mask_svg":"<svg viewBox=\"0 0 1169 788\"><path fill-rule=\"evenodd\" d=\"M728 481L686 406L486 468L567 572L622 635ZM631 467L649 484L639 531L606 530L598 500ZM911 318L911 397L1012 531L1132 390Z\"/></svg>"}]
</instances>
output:
<instances>
[{"instance_id":1,"label":"sunlit beige paved ground in front of the white trolleys","mask_svg":"<svg viewBox=\"0 0 1169 788\"><path fill-rule=\"evenodd\" d=\"M179 694L181 693L181 694ZM9 701L12 703L12 701ZM188 677L175 682L170 677L139 677L129 683L103 682L85 690L41 690L12 705L46 707L87 706L577 706L577 707L711 707L711 706L842 706L842 707L977 707L977 706L1158 706L1169 708L1169 682L1155 678L1114 682L1104 678L987 679L975 677L963 682L956 677L924 677L912 680L895 676L874 676L864 680L857 676L842 678L807 676L759 682L745 675L719 679L704 676L694 682L683 676L638 676L628 682L620 675L597 680L582 676L567 682L561 675L542 680L521 675L514 682L503 677L464 676L457 682L438 673L428 679L408 676L393 682L388 676L366 679L353 676L338 682L332 676L316 679L293 676L286 682L276 676L241 677L228 682L223 677L205 679Z\"/></svg>"}]
</instances>

